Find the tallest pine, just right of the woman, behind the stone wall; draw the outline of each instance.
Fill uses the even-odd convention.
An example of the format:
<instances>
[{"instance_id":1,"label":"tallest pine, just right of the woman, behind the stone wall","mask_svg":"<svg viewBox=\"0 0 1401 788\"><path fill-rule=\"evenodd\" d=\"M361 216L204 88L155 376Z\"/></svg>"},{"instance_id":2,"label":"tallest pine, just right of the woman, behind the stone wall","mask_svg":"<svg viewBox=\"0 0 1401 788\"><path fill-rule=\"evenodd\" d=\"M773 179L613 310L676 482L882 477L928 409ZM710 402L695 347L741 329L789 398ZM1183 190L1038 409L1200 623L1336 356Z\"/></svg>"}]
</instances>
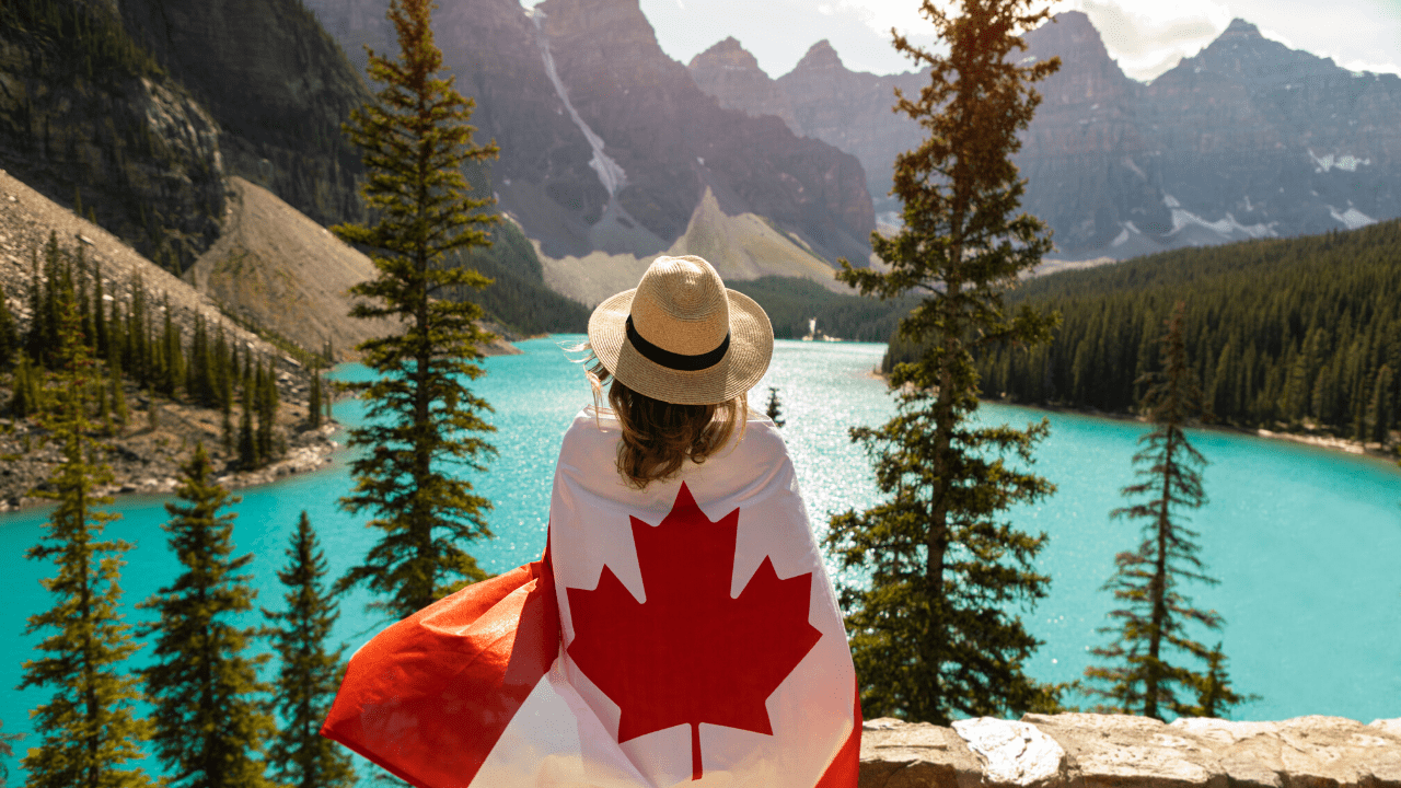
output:
<instances>
[{"instance_id":1,"label":"tallest pine, just right of the woman, behind the stone wall","mask_svg":"<svg viewBox=\"0 0 1401 788\"><path fill-rule=\"evenodd\" d=\"M869 582L843 585L862 708L947 725L954 714L1006 715L1051 709L1056 691L1023 670L1040 645L1009 606L1044 597L1049 578L1033 571L1045 534L1016 530L1005 512L1049 495L1020 464L1047 432L978 426L978 374L971 352L1045 342L1054 318L1003 308L1003 292L1051 250L1044 224L1014 216L1024 182L1012 154L1040 102L1031 83L1059 59L1014 64L1020 32L1049 11L1033 0L962 0L951 15L925 0L922 14L947 56L895 35L895 49L927 63L918 97L897 93L897 109L929 137L895 160L904 227L871 236L888 273L842 261L838 278L863 294L923 300L899 324L920 348L890 376L899 408L884 426L852 429L866 443L888 499L838 515L827 545L843 569Z\"/></svg>"}]
</instances>

